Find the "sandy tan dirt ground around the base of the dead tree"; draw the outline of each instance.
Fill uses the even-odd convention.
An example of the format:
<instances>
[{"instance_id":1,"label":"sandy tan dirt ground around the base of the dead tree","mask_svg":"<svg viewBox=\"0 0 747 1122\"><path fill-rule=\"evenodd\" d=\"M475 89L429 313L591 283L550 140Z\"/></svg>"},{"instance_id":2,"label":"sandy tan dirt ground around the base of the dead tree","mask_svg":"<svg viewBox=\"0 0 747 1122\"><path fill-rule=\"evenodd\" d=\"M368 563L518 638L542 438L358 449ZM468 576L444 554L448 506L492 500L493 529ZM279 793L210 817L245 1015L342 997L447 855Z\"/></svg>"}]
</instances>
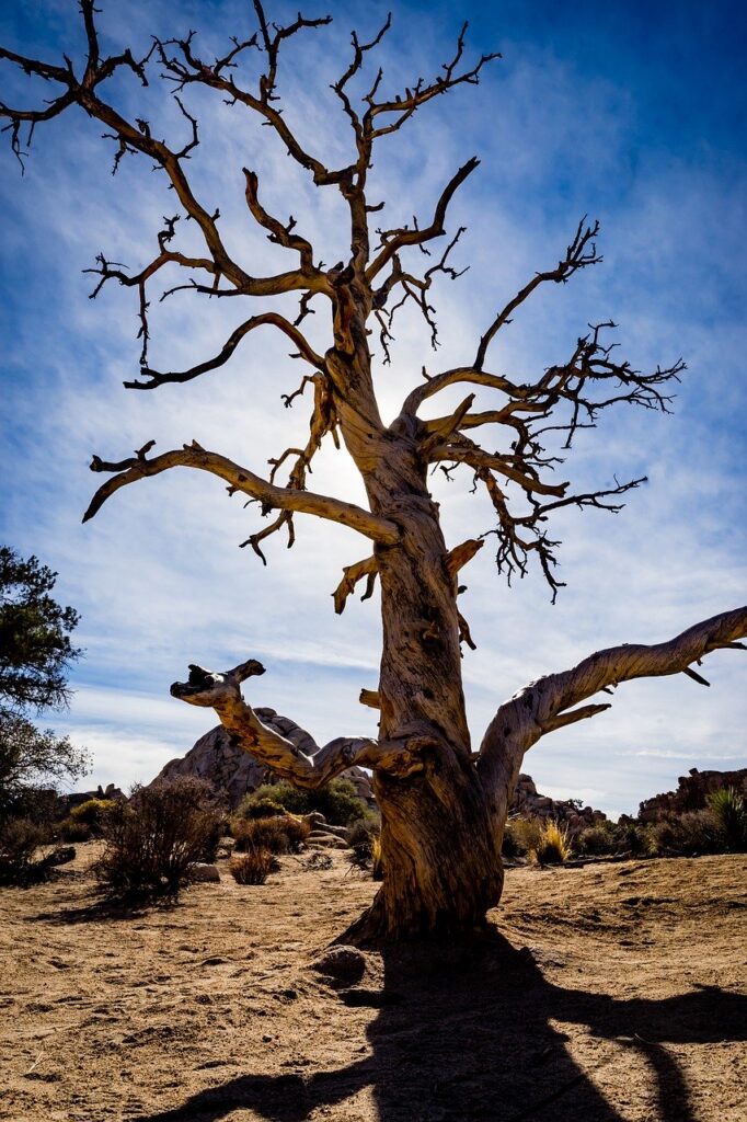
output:
<instances>
[{"instance_id":1,"label":"sandy tan dirt ground around the base of the dead tree","mask_svg":"<svg viewBox=\"0 0 747 1122\"><path fill-rule=\"evenodd\" d=\"M491 936L335 981L344 855L107 913L94 852L0 890L3 1120L747 1118L745 856L509 871Z\"/></svg>"}]
</instances>

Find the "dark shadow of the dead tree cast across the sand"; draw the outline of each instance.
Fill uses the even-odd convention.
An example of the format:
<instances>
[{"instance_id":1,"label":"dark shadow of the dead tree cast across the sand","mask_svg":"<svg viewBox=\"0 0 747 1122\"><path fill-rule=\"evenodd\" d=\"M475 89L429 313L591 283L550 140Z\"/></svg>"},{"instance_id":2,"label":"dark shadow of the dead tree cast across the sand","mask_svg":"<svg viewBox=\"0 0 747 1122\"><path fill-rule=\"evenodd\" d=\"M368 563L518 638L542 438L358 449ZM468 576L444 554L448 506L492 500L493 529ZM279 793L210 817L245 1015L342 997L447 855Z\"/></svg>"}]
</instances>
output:
<instances>
[{"instance_id":1,"label":"dark shadow of the dead tree cast across the sand","mask_svg":"<svg viewBox=\"0 0 747 1122\"><path fill-rule=\"evenodd\" d=\"M615 1000L563 988L543 976L542 955L497 934L451 953L390 948L382 957L382 990L339 994L347 1004L379 1009L368 1029L369 1057L307 1077L242 1075L139 1122L220 1122L241 1109L269 1122L303 1122L366 1087L381 1122L548 1122L559 1107L577 1119L624 1122L590 1076L627 1049L637 1052L637 1069L647 1069L652 1118L695 1122L666 1046L747 1036L747 997L739 994L699 987L658 1001ZM556 1022L585 1029L585 1072Z\"/></svg>"}]
</instances>

